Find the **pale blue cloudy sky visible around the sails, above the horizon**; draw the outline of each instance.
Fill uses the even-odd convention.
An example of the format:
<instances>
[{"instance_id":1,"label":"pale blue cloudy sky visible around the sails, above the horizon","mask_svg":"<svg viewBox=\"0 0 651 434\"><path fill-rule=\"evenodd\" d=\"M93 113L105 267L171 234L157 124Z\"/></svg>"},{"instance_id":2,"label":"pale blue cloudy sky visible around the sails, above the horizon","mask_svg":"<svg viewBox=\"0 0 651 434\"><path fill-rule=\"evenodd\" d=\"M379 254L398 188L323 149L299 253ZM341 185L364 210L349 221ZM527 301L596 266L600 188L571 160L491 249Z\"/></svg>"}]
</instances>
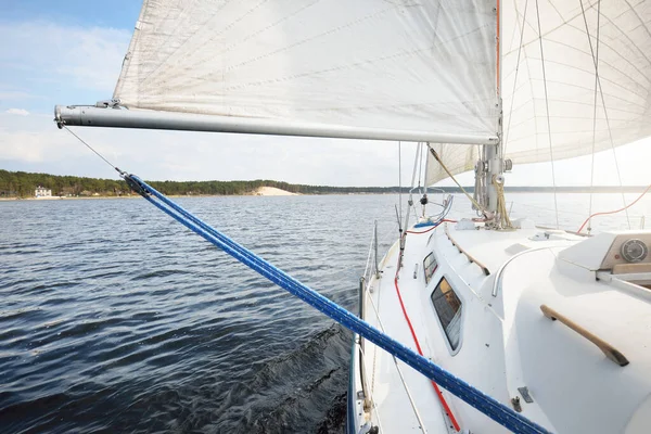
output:
<instances>
[{"instance_id":1,"label":"pale blue cloudy sky visible around the sails, above the horizon","mask_svg":"<svg viewBox=\"0 0 651 434\"><path fill-rule=\"evenodd\" d=\"M133 25L137 0L0 0L0 168L115 178L72 135L56 129L55 104L110 99ZM208 132L77 128L112 163L151 180L275 179L328 186L398 184L398 144ZM404 143L403 183L414 144ZM624 184L648 184L651 140L616 150ZM587 186L591 157L556 163L558 186ZM597 154L598 184L618 184L613 151ZM472 184L472 174L458 177ZM549 163L514 167L510 186L550 186ZM450 186L449 180L442 184Z\"/></svg>"}]
</instances>

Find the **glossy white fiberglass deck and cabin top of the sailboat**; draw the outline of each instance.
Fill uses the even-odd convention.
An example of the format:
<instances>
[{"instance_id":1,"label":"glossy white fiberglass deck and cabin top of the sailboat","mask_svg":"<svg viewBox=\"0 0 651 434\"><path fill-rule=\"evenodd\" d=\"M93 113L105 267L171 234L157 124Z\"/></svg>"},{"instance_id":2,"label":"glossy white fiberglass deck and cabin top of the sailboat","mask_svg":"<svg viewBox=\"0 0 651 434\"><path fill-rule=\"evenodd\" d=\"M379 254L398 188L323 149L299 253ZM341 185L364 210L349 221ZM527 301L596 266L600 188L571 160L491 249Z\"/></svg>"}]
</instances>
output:
<instances>
[{"instance_id":1,"label":"glossy white fiberglass deck and cabin top of the sailboat","mask_svg":"<svg viewBox=\"0 0 651 434\"><path fill-rule=\"evenodd\" d=\"M651 291L590 264L602 264L608 255L618 257L609 251L609 243L641 235L587 239L528 227L489 231L477 225L477 229L456 230L455 224L444 224L407 235L398 285L423 355L505 405L513 407L512 399L518 399L523 416L552 432L647 433L651 423ZM643 237L651 242L651 233ZM431 252L437 267L425 283L423 259ZM416 350L394 284L398 253L396 243L381 264L382 277L368 285L363 317ZM639 279L644 273L651 279L651 260L635 276ZM431 299L444 278L461 304L455 348ZM561 321L546 318L541 305L612 344L630 363L618 366L608 359L592 342ZM427 379L398 361L403 382L393 357L368 342L361 359L365 396L373 403L371 408L367 404L366 417L381 433L455 432ZM519 391L523 387L524 392ZM527 393L532 403L524 399ZM506 432L448 392L443 395L462 431Z\"/></svg>"}]
</instances>

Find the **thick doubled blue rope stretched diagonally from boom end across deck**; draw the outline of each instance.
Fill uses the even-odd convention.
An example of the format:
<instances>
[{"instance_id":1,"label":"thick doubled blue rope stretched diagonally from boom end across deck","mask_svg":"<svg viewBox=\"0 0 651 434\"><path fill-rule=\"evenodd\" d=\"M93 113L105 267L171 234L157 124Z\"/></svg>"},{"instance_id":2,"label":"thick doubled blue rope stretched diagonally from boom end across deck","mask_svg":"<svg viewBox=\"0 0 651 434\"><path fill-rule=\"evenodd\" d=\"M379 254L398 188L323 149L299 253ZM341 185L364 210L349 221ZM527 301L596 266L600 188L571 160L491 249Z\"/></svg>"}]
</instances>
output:
<instances>
[{"instance_id":1,"label":"thick doubled blue rope stretched diagonally from boom end across deck","mask_svg":"<svg viewBox=\"0 0 651 434\"><path fill-rule=\"evenodd\" d=\"M515 433L549 433L549 431L542 426L529 421L522 414L513 411L510 407L505 406L472 385L465 383L463 380L439 368L431 360L418 355L399 342L394 341L386 334L370 326L368 322L359 319L334 302L331 302L318 292L304 285L284 271L276 268L265 259L258 257L253 252L244 248L230 238L194 217L178 204L165 197L137 176L127 174L123 174L123 176L129 186L142 194L144 199L151 202L158 209L163 210L165 214L179 221L181 225L186 226L188 229L203 237L206 241L221 248L242 264L252 268L254 271L257 271L271 282L286 290L292 295L297 296L310 306L326 314L340 324L359 334L363 339L367 339L387 353L396 356L411 368L435 381L442 387L446 388L455 396L463 399L465 403L470 404L472 407L476 408L490 419Z\"/></svg>"}]
</instances>

